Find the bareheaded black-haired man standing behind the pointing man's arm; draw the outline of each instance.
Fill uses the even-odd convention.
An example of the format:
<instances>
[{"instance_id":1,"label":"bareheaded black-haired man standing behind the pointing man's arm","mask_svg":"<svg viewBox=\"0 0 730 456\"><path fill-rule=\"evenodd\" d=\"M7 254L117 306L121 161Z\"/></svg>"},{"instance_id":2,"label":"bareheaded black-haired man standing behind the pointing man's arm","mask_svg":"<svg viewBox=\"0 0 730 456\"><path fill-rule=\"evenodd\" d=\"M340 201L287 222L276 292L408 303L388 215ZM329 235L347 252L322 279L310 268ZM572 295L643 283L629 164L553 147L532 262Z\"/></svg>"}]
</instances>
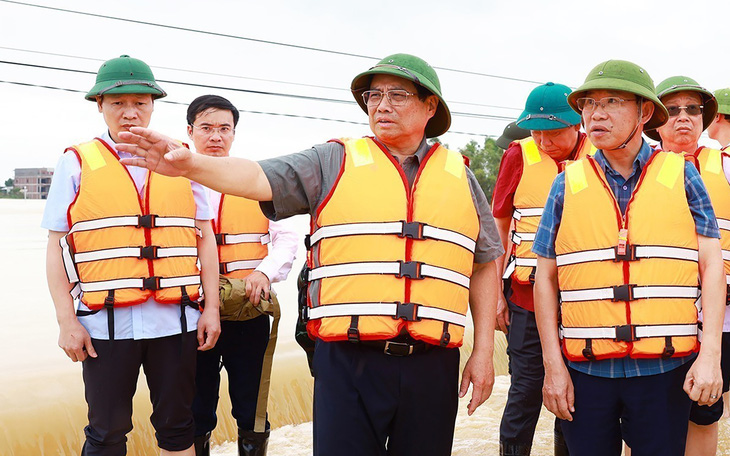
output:
<instances>
[{"instance_id":1,"label":"bareheaded black-haired man standing behind the pointing man's arm","mask_svg":"<svg viewBox=\"0 0 730 456\"><path fill-rule=\"evenodd\" d=\"M195 151L228 157L238 124L238 109L217 95L203 95L188 106L188 137ZM218 241L221 275L246 279L246 295L254 306L269 299L271 283L286 279L299 242L282 222L267 219L258 201L210 191L213 227ZM210 434L217 423L220 370L228 374L232 413L238 424L238 454L265 456L269 439L266 397L271 374L269 316L247 320L221 315L216 346L198 354L193 401L196 456L210 454ZM273 348L269 350L270 353Z\"/></svg>"}]
</instances>

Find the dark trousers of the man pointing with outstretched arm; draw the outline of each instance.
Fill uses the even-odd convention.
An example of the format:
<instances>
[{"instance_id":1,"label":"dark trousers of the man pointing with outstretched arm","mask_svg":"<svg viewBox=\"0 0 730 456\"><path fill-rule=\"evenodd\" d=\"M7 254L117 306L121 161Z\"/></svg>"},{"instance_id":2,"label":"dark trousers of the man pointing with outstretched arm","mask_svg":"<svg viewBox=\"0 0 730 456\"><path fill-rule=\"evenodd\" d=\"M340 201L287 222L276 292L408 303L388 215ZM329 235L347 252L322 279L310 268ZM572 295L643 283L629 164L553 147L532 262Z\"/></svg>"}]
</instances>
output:
<instances>
[{"instance_id":1,"label":"dark trousers of the man pointing with outstretched arm","mask_svg":"<svg viewBox=\"0 0 730 456\"><path fill-rule=\"evenodd\" d=\"M318 340L314 455L448 456L458 388L458 349L396 357Z\"/></svg>"}]
</instances>

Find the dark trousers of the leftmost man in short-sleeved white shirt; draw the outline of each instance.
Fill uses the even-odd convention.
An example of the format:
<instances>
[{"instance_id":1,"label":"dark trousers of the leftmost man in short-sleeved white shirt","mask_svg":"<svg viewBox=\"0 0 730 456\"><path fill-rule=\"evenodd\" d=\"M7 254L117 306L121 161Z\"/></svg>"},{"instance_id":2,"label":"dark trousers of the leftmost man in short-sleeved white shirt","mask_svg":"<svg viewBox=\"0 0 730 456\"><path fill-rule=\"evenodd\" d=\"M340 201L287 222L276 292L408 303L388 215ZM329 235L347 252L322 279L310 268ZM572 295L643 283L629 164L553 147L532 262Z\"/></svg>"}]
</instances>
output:
<instances>
[{"instance_id":1,"label":"dark trousers of the leftmost man in short-sleeved white shirt","mask_svg":"<svg viewBox=\"0 0 730 456\"><path fill-rule=\"evenodd\" d=\"M181 451L193 444L197 333L158 339L92 339L97 358L82 363L89 424L85 456L127 454L132 430L132 397L144 368L152 401L150 421L160 448Z\"/></svg>"}]
</instances>

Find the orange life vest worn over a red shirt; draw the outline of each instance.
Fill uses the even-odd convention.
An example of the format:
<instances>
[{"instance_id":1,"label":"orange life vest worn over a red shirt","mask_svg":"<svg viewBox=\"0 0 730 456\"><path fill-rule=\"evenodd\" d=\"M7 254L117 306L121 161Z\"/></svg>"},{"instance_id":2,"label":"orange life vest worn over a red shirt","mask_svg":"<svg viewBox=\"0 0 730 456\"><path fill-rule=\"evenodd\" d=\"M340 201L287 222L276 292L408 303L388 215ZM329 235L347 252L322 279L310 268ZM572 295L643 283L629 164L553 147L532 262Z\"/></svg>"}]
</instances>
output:
<instances>
[{"instance_id":1,"label":"orange life vest worn over a red shirt","mask_svg":"<svg viewBox=\"0 0 730 456\"><path fill-rule=\"evenodd\" d=\"M555 176L570 161L556 162L540 151L532 138L517 142L522 149L522 176L514 196L512 254L502 278L511 277L518 283L530 284L535 283L537 255L532 253L532 242L540 225L540 216ZM595 152L596 148L584 137L575 158L578 160Z\"/></svg>"}]
</instances>

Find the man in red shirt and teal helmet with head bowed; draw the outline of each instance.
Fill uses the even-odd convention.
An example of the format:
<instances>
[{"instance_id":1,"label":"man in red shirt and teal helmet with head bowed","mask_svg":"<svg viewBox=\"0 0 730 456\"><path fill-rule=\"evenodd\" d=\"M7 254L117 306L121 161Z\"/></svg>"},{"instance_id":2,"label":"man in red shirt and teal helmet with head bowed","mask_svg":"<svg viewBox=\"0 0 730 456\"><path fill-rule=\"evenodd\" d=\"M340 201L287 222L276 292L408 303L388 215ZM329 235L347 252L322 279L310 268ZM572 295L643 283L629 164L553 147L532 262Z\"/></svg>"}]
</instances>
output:
<instances>
[{"instance_id":1,"label":"man in red shirt and teal helmet with head bowed","mask_svg":"<svg viewBox=\"0 0 730 456\"><path fill-rule=\"evenodd\" d=\"M530 454L542 408L545 372L532 299L537 266L532 240L555 176L569 160L595 150L580 132L580 115L568 104L569 93L569 87L548 82L527 97L517 125L531 137L512 142L502 156L492 199L502 245L510 252L504 267L503 258L497 260L498 269L504 271L497 327L507 335L511 375L499 430L504 456ZM558 426L555 445L556 454L564 453Z\"/></svg>"}]
</instances>

